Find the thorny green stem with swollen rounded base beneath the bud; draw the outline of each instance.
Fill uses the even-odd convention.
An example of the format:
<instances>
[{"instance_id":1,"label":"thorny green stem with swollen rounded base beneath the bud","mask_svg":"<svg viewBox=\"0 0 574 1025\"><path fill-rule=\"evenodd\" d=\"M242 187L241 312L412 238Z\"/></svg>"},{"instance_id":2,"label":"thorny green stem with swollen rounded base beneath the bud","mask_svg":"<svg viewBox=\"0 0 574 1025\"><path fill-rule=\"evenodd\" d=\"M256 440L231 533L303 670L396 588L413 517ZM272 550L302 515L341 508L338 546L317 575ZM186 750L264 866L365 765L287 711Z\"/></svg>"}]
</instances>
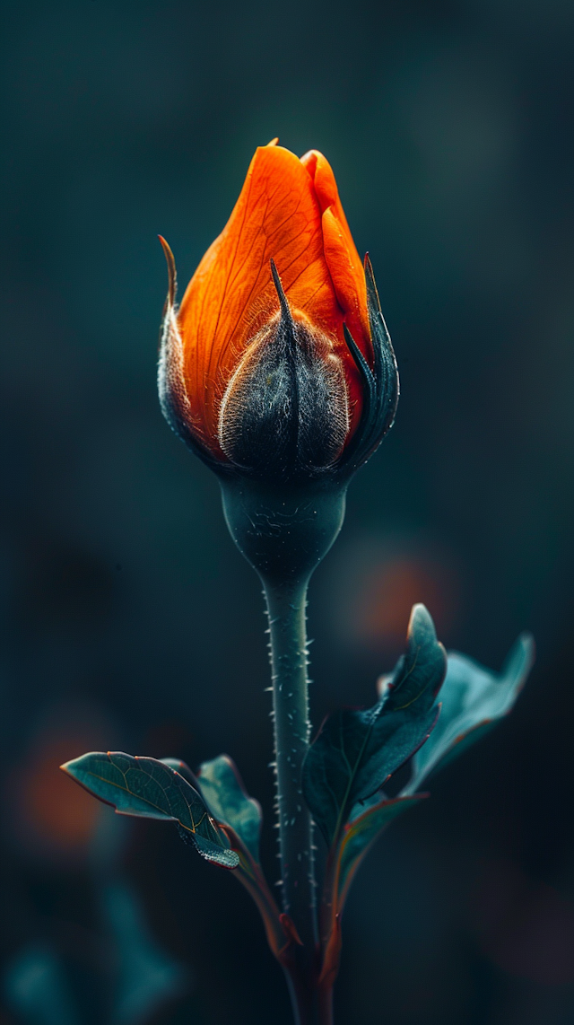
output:
<instances>
[{"instance_id":1,"label":"thorny green stem with swollen rounded base beneath the bud","mask_svg":"<svg viewBox=\"0 0 574 1025\"><path fill-rule=\"evenodd\" d=\"M331 982L319 983L313 823L301 786L309 750L306 588L344 519L345 483L221 479L225 521L263 584L271 637L285 945L277 954L295 1025L332 1025Z\"/></svg>"}]
</instances>

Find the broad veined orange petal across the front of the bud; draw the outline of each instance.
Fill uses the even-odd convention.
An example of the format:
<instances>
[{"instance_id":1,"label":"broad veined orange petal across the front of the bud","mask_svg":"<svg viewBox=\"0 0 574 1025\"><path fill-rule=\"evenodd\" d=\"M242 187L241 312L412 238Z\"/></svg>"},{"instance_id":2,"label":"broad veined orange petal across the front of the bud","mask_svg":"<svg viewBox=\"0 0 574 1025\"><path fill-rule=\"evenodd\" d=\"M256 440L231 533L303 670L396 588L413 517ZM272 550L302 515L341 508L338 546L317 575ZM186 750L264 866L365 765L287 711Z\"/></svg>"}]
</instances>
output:
<instances>
[{"instance_id":1,"label":"broad veined orange petal across the front of the bud","mask_svg":"<svg viewBox=\"0 0 574 1025\"><path fill-rule=\"evenodd\" d=\"M329 336L342 311L323 252L322 211L313 180L294 154L272 145L255 152L221 235L207 250L181 302L190 402L208 438L238 356L279 309L273 257L293 310Z\"/></svg>"}]
</instances>

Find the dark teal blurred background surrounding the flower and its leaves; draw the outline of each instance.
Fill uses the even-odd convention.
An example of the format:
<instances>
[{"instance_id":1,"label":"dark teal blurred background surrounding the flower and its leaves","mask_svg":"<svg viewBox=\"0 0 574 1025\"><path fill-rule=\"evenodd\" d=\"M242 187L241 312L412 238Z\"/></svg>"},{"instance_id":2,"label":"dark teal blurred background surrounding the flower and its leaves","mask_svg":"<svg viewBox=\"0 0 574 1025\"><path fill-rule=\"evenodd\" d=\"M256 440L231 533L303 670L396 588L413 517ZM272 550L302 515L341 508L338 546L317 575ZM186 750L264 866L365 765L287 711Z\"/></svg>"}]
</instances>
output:
<instances>
[{"instance_id":1,"label":"dark teal blurred background surrounding the flower and its leaves","mask_svg":"<svg viewBox=\"0 0 574 1025\"><path fill-rule=\"evenodd\" d=\"M105 885L112 813L56 768L228 751L277 873L259 586L155 382L156 236L184 285L276 134L332 163L403 392L312 587L315 724L372 703L415 601L492 668L523 627L538 645L510 719L370 854L337 1021L570 1025L572 3L31 0L2 20L2 1025L104 1021L121 936L146 930L141 979L149 955L173 985L106 1020L289 1022L231 875L135 822Z\"/></svg>"}]
</instances>

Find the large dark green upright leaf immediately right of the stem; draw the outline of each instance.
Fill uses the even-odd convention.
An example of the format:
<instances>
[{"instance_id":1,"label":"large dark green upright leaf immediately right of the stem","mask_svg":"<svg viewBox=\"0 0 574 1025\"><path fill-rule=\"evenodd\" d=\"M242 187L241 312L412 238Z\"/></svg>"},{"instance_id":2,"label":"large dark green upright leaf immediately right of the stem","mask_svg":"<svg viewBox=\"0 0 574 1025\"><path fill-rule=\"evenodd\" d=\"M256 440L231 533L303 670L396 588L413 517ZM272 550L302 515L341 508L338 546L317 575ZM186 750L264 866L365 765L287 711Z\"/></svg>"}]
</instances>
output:
<instances>
[{"instance_id":1,"label":"large dark green upright leaf immediately right of the stem","mask_svg":"<svg viewBox=\"0 0 574 1025\"><path fill-rule=\"evenodd\" d=\"M380 789L428 736L446 653L423 605L409 622L407 652L384 693L366 711L329 715L303 765L303 793L327 844L337 838L354 805Z\"/></svg>"}]
</instances>

